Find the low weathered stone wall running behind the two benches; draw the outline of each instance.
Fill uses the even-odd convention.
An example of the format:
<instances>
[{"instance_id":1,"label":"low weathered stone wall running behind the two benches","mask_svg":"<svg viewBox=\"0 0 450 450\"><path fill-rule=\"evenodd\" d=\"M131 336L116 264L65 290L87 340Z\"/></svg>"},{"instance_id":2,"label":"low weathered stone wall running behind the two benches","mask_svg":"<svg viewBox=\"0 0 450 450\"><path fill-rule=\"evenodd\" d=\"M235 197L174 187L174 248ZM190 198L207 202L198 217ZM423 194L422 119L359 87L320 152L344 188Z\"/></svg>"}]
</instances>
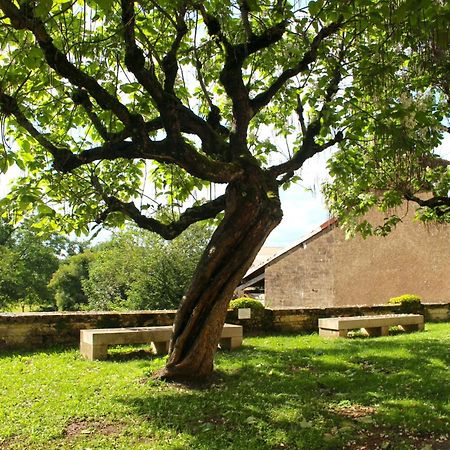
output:
<instances>
[{"instance_id":1,"label":"low weathered stone wall running behind the two benches","mask_svg":"<svg viewBox=\"0 0 450 450\"><path fill-rule=\"evenodd\" d=\"M403 313L398 306L344 308L265 309L252 311L251 319L238 319L228 311L227 322L243 325L246 333L260 331L317 331L320 317ZM450 321L450 303L424 304L418 310L426 322ZM0 314L0 351L76 346L80 330L88 328L171 325L176 311L64 312Z\"/></svg>"}]
</instances>

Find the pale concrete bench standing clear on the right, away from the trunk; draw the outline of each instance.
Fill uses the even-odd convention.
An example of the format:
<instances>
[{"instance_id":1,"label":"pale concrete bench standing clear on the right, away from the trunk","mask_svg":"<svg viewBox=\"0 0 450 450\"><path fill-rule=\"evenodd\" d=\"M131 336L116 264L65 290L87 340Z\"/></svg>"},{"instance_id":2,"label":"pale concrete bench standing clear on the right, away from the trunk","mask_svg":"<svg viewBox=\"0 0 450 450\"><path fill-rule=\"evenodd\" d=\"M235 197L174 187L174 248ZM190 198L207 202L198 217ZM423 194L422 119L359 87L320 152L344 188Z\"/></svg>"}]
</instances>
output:
<instances>
[{"instance_id":1,"label":"pale concrete bench standing clear on the right, away from the trunk","mask_svg":"<svg viewBox=\"0 0 450 450\"><path fill-rule=\"evenodd\" d=\"M405 331L423 330L420 314L387 314L381 316L331 317L319 319L319 335L346 337L349 330L364 328L369 336L387 336L389 327L400 326Z\"/></svg>"}]
</instances>

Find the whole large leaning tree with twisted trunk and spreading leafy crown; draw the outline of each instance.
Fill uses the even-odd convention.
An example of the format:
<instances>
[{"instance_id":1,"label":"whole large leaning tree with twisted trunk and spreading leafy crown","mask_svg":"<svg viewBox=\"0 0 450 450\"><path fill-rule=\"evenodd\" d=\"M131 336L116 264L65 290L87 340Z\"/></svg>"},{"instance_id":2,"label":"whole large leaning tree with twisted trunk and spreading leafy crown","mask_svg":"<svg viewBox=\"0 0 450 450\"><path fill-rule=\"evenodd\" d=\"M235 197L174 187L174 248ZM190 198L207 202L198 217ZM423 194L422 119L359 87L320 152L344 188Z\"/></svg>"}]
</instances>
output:
<instances>
[{"instance_id":1,"label":"whole large leaning tree with twisted trunk and spreading leafy crown","mask_svg":"<svg viewBox=\"0 0 450 450\"><path fill-rule=\"evenodd\" d=\"M280 186L359 133L347 106L375 66L372 43L406 35L398 17L418 13L405 5L0 0L0 109L14 140L2 165L26 170L2 206L77 232L127 218L165 239L217 217L160 373L206 377L233 290L281 220ZM415 54L387 53L383 67L395 74ZM174 220L152 217L147 180ZM192 199L210 183L224 193Z\"/></svg>"}]
</instances>

